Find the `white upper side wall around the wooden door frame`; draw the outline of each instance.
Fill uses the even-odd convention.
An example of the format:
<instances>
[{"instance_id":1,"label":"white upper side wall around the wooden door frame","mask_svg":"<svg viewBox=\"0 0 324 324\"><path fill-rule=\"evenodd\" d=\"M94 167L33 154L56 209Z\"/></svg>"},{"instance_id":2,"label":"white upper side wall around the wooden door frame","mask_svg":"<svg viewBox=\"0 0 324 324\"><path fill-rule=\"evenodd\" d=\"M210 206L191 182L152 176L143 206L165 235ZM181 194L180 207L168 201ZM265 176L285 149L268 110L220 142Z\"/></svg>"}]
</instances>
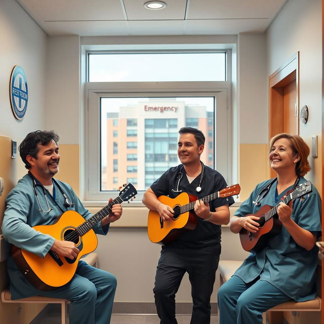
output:
<instances>
[{"instance_id":1,"label":"white upper side wall around the wooden door frame","mask_svg":"<svg viewBox=\"0 0 324 324\"><path fill-rule=\"evenodd\" d=\"M307 124L299 125L301 136L321 133L321 3L290 0L266 33L268 76L300 52L299 107L309 109Z\"/></svg>"}]
</instances>

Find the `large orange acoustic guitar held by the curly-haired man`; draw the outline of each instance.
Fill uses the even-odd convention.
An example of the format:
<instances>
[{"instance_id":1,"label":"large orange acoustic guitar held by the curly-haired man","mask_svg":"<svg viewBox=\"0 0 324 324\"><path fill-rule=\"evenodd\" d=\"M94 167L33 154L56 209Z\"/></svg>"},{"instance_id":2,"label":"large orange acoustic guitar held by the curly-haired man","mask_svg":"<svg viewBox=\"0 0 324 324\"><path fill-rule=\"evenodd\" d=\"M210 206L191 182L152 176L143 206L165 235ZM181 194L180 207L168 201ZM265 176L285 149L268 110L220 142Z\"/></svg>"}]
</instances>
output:
<instances>
[{"instance_id":1,"label":"large orange acoustic guitar held by the curly-haired man","mask_svg":"<svg viewBox=\"0 0 324 324\"><path fill-rule=\"evenodd\" d=\"M31 285L42 291L54 290L67 284L75 273L79 259L97 248L98 240L92 228L111 212L113 205L127 201L136 194L134 186L128 184L117 198L86 221L77 212L67 211L52 225L33 226L36 231L56 239L73 241L80 252L74 260L59 256L52 250L41 258L13 246L13 258L20 271Z\"/></svg>"}]
</instances>

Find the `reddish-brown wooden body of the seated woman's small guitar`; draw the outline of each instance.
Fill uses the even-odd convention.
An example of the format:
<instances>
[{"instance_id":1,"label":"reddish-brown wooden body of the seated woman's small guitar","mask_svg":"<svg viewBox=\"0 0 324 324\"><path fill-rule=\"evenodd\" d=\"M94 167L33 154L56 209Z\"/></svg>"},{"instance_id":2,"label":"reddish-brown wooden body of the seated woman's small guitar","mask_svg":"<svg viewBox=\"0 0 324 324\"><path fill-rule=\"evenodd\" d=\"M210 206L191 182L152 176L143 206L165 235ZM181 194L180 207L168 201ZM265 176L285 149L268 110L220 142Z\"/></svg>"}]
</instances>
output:
<instances>
[{"instance_id":1,"label":"reddish-brown wooden body of the seated woman's small guitar","mask_svg":"<svg viewBox=\"0 0 324 324\"><path fill-rule=\"evenodd\" d=\"M246 216L262 217L271 209L271 206L264 205L256 214L249 214ZM281 228L282 223L278 219L278 216L274 216L266 222L260 221L259 230L256 233L250 232L251 235L248 234L248 231L245 228L242 228L239 232L239 239L242 248L252 253L260 252L266 246L267 241L271 236L281 232Z\"/></svg>"}]
</instances>

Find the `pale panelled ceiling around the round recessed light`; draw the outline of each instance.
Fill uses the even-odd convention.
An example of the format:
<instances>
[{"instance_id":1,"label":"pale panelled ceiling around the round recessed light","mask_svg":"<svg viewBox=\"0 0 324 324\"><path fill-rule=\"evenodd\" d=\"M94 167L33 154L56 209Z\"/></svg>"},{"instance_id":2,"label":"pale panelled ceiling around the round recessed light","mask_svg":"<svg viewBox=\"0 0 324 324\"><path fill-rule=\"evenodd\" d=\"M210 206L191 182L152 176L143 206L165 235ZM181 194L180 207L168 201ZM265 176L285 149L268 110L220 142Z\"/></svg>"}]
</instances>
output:
<instances>
[{"instance_id":1,"label":"pale panelled ceiling around the round recessed light","mask_svg":"<svg viewBox=\"0 0 324 324\"><path fill-rule=\"evenodd\" d=\"M264 32L292 0L16 0L49 35L211 35Z\"/></svg>"}]
</instances>

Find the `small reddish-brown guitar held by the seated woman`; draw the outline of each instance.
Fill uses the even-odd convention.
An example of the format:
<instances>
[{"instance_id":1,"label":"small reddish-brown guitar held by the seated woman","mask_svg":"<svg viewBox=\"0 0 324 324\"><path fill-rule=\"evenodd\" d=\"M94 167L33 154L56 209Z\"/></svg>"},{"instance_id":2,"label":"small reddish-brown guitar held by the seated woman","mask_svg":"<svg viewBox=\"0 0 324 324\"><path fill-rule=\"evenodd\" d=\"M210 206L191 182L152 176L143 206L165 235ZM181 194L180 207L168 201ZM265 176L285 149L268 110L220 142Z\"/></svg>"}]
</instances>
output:
<instances>
[{"instance_id":1,"label":"small reddish-brown guitar held by the seated woman","mask_svg":"<svg viewBox=\"0 0 324 324\"><path fill-rule=\"evenodd\" d=\"M299 184L296 189L280 202L288 205L292 199L300 198L312 191L310 181ZM279 203L280 204L280 203ZM256 253L261 251L267 244L269 238L281 232L282 223L277 214L279 204L272 207L264 205L256 214L248 214L246 216L260 217L256 222L260 224L259 230L255 233L249 232L245 228L239 231L239 239L242 248L246 251Z\"/></svg>"}]
</instances>

